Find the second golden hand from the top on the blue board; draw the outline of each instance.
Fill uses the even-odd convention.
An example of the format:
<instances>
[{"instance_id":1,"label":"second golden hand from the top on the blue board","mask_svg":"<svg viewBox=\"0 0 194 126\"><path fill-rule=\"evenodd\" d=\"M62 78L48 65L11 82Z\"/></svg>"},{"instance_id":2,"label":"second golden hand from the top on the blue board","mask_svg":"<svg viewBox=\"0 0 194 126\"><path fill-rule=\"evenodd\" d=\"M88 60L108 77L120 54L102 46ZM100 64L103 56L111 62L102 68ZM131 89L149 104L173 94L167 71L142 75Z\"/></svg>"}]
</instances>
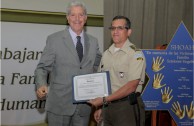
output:
<instances>
[{"instance_id":1,"label":"second golden hand from the top on the blue board","mask_svg":"<svg viewBox=\"0 0 194 126\"><path fill-rule=\"evenodd\" d=\"M156 74L156 76L154 74L154 82L153 82L154 89L159 89L166 85L166 84L163 84L163 85L160 84L163 78L164 78L164 75L162 74Z\"/></svg>"}]
</instances>

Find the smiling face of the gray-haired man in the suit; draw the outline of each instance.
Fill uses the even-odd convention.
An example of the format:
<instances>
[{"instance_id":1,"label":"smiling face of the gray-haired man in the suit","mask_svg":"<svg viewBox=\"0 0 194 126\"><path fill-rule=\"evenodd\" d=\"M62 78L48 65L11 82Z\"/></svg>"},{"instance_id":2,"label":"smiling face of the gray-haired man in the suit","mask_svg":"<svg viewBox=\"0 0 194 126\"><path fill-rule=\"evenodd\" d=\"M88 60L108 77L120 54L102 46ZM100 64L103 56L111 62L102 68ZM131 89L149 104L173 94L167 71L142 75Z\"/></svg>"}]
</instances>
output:
<instances>
[{"instance_id":1,"label":"smiling face of the gray-haired man in the suit","mask_svg":"<svg viewBox=\"0 0 194 126\"><path fill-rule=\"evenodd\" d=\"M77 35L80 35L84 28L84 24L86 23L87 15L82 7L72 6L69 15L67 15L67 20L71 29Z\"/></svg>"}]
</instances>

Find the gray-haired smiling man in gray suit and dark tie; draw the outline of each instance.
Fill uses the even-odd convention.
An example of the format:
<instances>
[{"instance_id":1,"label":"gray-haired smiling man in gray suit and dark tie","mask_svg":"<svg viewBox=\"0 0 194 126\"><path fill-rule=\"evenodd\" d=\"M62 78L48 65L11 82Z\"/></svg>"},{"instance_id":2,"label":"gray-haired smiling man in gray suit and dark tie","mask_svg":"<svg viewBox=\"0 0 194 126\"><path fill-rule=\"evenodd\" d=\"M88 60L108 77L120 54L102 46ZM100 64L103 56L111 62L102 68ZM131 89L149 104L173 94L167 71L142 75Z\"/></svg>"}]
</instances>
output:
<instances>
[{"instance_id":1,"label":"gray-haired smiling man in gray suit and dark tie","mask_svg":"<svg viewBox=\"0 0 194 126\"><path fill-rule=\"evenodd\" d=\"M98 41L84 32L87 11L82 2L74 1L67 7L69 27L51 34L35 70L37 95L47 96L46 110L49 126L87 126L91 106L73 104L72 78L93 73L101 60ZM78 54L77 36L81 52ZM80 44L80 43L79 43ZM79 56L80 57L79 57ZM47 77L49 75L49 91Z\"/></svg>"}]
</instances>

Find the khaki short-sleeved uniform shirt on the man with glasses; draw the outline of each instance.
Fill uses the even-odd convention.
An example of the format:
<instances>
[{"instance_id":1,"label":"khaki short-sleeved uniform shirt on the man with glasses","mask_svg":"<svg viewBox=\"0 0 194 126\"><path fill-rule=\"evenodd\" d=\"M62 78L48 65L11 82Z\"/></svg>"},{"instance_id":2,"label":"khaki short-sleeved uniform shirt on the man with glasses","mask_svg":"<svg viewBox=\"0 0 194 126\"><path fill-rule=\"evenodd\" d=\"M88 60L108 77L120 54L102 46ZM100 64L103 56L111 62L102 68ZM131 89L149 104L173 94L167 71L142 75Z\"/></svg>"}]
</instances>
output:
<instances>
[{"instance_id":1,"label":"khaki short-sleeved uniform shirt on the man with glasses","mask_svg":"<svg viewBox=\"0 0 194 126\"><path fill-rule=\"evenodd\" d=\"M99 71L109 71L112 93L117 91L128 81L139 79L139 86L136 92L142 91L142 84L145 79L145 57L141 50L127 40L123 47L115 51L112 44L101 59Z\"/></svg>"}]
</instances>

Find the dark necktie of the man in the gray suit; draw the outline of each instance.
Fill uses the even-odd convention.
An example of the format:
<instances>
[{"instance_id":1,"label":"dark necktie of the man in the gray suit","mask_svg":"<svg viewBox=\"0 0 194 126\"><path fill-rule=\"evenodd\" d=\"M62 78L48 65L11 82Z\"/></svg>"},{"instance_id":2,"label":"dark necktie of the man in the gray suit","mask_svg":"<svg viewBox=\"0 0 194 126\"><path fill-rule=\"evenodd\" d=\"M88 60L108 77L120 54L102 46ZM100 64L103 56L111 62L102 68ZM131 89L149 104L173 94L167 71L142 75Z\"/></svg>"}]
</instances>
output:
<instances>
[{"instance_id":1,"label":"dark necktie of the man in the gray suit","mask_svg":"<svg viewBox=\"0 0 194 126\"><path fill-rule=\"evenodd\" d=\"M77 54L79 56L79 61L82 61L83 58L83 46L81 43L81 37L77 36L77 44L76 44L76 50L77 50Z\"/></svg>"}]
</instances>

